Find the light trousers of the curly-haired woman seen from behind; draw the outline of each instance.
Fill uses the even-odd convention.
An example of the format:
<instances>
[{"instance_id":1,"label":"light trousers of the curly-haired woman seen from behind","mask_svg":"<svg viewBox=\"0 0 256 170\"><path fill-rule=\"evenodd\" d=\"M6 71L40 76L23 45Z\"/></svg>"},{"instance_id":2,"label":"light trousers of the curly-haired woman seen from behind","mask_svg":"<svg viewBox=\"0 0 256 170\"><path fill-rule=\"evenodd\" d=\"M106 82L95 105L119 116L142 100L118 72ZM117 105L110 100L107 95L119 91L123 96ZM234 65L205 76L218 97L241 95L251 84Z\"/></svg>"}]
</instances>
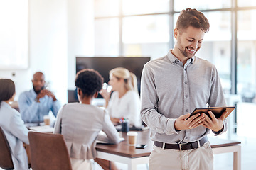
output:
<instances>
[{"instance_id":1,"label":"light trousers of the curly-haired woman seen from behind","mask_svg":"<svg viewBox=\"0 0 256 170\"><path fill-rule=\"evenodd\" d=\"M92 160L70 158L73 170L92 170Z\"/></svg>"}]
</instances>

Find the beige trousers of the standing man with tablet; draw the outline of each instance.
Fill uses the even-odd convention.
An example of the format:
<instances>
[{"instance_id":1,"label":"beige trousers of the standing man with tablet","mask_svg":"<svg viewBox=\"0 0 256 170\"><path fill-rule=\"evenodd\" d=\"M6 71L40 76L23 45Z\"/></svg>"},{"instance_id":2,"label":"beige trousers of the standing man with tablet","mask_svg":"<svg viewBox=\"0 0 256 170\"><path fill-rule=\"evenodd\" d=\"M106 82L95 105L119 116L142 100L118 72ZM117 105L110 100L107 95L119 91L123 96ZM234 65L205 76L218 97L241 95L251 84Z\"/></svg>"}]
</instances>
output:
<instances>
[{"instance_id":1,"label":"beige trousers of the standing man with tablet","mask_svg":"<svg viewBox=\"0 0 256 170\"><path fill-rule=\"evenodd\" d=\"M149 157L149 170L213 170L213 150L210 143L192 150L153 147Z\"/></svg>"}]
</instances>

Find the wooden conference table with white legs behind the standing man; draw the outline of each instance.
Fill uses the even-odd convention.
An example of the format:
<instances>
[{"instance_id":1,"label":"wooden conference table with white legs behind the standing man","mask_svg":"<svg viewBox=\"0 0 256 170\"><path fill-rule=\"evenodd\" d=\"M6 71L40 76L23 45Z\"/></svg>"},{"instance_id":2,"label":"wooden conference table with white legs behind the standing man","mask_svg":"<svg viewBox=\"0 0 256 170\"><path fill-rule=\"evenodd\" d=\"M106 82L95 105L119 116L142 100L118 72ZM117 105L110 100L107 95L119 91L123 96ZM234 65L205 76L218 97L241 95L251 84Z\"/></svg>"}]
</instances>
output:
<instances>
[{"instance_id":1,"label":"wooden conference table with white legs behind the standing man","mask_svg":"<svg viewBox=\"0 0 256 170\"><path fill-rule=\"evenodd\" d=\"M147 147L144 149L135 149L134 146L129 146L126 133L120 133L122 137L124 137L124 141L120 142L118 145L96 145L97 157L127 164L128 170L137 169L137 164L149 163L149 155L153 149L150 130L138 132L137 144L146 144ZM209 137L209 140L213 149L213 154L233 152L233 169L241 169L241 142L218 139L217 137Z\"/></svg>"}]
</instances>

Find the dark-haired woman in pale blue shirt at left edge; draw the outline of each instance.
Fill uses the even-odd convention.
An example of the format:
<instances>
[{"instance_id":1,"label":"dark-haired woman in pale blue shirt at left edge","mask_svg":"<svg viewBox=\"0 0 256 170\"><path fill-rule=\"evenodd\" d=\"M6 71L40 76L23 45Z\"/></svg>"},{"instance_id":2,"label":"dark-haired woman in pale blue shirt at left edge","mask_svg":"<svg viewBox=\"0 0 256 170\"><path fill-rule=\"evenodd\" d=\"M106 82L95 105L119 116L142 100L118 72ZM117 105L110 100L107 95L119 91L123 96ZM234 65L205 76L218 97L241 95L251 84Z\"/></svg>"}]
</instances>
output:
<instances>
[{"instance_id":1,"label":"dark-haired woman in pale blue shirt at left edge","mask_svg":"<svg viewBox=\"0 0 256 170\"><path fill-rule=\"evenodd\" d=\"M11 79L0 79L0 126L11 149L11 159L16 170L28 170L28 156L23 142L28 144L28 129L18 113L9 105L14 101L15 84Z\"/></svg>"}]
</instances>

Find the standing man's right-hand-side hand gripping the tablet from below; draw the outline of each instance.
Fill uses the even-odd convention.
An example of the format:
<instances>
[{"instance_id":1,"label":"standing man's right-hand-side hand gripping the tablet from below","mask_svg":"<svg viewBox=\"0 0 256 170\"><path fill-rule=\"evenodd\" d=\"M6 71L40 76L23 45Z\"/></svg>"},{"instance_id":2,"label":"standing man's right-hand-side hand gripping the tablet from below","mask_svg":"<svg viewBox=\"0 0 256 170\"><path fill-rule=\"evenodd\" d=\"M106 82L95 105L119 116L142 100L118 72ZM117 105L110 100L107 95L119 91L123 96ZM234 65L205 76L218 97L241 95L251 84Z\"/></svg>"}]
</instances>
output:
<instances>
[{"instance_id":1,"label":"standing man's right-hand-side hand gripping the tablet from below","mask_svg":"<svg viewBox=\"0 0 256 170\"><path fill-rule=\"evenodd\" d=\"M225 115L228 112L225 111L218 119L215 118L215 115L213 114L212 111L208 111L208 113L210 115L210 118L205 113L202 114L205 118L205 120L203 120L203 126L215 132L220 131L223 128L223 121L225 119Z\"/></svg>"}]
</instances>

